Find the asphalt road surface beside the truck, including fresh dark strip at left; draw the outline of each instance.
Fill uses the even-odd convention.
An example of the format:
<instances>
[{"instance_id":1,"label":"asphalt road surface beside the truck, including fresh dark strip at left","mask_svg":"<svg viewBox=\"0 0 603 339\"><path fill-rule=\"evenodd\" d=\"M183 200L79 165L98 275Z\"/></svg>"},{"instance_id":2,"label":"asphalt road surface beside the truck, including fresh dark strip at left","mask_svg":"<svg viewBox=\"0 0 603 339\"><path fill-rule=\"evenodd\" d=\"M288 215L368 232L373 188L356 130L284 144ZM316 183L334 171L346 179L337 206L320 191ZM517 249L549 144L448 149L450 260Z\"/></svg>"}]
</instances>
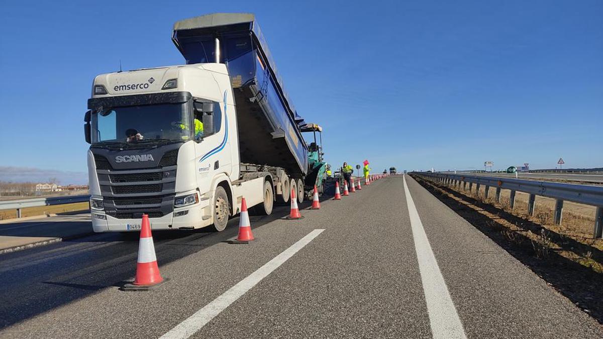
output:
<instances>
[{"instance_id":1,"label":"asphalt road surface beside the truck, including fresh dark strip at left","mask_svg":"<svg viewBox=\"0 0 603 339\"><path fill-rule=\"evenodd\" d=\"M405 185L406 183L406 185ZM601 338L602 326L408 176L319 211L251 217L256 241L156 232L163 277L133 279L115 233L0 255L2 338Z\"/></svg>"}]
</instances>

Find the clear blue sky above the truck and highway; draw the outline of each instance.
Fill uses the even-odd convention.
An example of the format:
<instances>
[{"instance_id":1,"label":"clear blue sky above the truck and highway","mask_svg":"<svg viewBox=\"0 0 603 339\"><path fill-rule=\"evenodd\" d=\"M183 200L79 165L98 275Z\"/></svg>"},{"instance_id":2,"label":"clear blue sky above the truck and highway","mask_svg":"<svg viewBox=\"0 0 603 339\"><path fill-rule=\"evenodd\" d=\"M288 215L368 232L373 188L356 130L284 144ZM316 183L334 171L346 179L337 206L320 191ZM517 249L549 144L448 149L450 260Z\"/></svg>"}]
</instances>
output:
<instances>
[{"instance_id":1,"label":"clear blue sky above the truck and highway","mask_svg":"<svg viewBox=\"0 0 603 339\"><path fill-rule=\"evenodd\" d=\"M256 14L330 163L603 166L598 0L4 1L0 166L85 172L93 77L183 63L172 24L216 11Z\"/></svg>"}]
</instances>

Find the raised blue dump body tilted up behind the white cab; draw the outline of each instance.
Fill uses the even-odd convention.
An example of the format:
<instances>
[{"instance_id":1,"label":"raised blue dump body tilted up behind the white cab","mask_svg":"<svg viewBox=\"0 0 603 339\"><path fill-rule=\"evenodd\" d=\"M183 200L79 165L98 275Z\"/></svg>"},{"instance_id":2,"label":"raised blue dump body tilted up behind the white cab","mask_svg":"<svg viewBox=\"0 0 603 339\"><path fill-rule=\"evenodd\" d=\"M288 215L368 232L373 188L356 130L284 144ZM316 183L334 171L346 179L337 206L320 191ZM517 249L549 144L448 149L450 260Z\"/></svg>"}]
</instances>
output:
<instances>
[{"instance_id":1,"label":"raised blue dump body tilted up behind the white cab","mask_svg":"<svg viewBox=\"0 0 603 339\"><path fill-rule=\"evenodd\" d=\"M254 15L216 13L178 21L172 40L188 64L227 65L241 162L279 166L292 176L305 176L308 148L298 127L303 119L285 92Z\"/></svg>"}]
</instances>

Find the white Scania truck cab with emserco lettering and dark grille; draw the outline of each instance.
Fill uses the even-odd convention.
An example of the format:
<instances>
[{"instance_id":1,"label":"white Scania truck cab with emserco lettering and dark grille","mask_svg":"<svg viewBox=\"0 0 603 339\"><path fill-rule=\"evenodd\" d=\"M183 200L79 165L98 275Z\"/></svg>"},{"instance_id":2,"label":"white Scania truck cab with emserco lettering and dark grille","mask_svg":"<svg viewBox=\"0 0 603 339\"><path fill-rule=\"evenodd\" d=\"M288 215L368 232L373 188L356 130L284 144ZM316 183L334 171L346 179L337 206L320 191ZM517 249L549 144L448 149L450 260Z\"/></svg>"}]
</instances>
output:
<instances>
[{"instance_id":1,"label":"white Scania truck cab with emserco lettering and dark grille","mask_svg":"<svg viewBox=\"0 0 603 339\"><path fill-rule=\"evenodd\" d=\"M88 108L96 232L139 229L143 213L156 229L213 222L211 192L218 185L232 191L230 183L239 179L235 106L225 65L101 74ZM195 131L199 123L203 129ZM236 212L229 209L230 215ZM216 217L228 215L221 211Z\"/></svg>"}]
</instances>

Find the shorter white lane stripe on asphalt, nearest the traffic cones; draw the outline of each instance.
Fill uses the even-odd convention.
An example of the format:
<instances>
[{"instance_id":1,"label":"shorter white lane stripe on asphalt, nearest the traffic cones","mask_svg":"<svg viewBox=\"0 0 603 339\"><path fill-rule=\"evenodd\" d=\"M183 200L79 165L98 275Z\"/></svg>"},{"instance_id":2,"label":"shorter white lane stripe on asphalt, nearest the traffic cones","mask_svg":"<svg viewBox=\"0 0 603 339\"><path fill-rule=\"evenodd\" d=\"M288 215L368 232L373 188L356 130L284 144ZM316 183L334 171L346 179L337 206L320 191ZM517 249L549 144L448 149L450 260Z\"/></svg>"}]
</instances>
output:
<instances>
[{"instance_id":1,"label":"shorter white lane stripe on asphalt, nearest the traffic cones","mask_svg":"<svg viewBox=\"0 0 603 339\"><path fill-rule=\"evenodd\" d=\"M288 249L281 252L279 255L274 257L271 261L268 261L264 266L258 268L255 272L251 273L245 279L241 280L238 284L231 287L230 290L221 294L221 296L214 299L212 302L205 305L195 314L191 315L188 319L169 330L168 333L162 335L161 338L188 338L191 335L199 331L203 326L209 323L216 315L224 311L230 304L235 302L239 297L251 290L258 282L272 273L272 271L279 268L285 261L291 258L299 250L303 249L304 246L308 245L312 239L316 238L324 229L315 229L308 235L301 238L295 244L291 245Z\"/></svg>"}]
</instances>

